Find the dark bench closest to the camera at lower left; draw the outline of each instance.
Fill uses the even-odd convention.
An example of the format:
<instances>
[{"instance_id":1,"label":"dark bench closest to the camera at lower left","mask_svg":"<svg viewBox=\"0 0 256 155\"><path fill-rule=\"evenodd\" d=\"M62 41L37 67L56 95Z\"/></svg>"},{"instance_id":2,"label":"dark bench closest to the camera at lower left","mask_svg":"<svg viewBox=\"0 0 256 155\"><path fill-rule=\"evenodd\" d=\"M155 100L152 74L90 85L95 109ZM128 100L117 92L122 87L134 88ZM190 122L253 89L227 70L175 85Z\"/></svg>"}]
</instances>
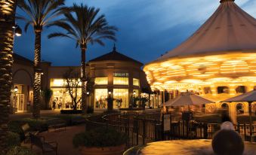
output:
<instances>
[{"instance_id":1,"label":"dark bench closest to the camera at lower left","mask_svg":"<svg viewBox=\"0 0 256 155\"><path fill-rule=\"evenodd\" d=\"M35 145L36 147L41 148L43 154L55 152L55 154L57 155L58 144L56 141L45 141L45 138L43 136L33 135L32 133L29 133L29 137L31 139L31 150L32 147Z\"/></svg>"}]
</instances>

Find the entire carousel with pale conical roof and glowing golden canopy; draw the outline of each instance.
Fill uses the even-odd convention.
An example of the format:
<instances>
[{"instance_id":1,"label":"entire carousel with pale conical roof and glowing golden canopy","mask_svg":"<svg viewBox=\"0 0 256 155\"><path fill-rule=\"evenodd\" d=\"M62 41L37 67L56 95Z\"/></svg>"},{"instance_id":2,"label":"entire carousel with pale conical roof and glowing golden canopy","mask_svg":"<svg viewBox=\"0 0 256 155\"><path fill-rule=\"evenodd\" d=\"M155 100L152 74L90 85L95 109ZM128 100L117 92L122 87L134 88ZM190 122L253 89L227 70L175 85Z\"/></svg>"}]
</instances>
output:
<instances>
[{"instance_id":1,"label":"entire carousel with pale conical roof and glowing golden canopy","mask_svg":"<svg viewBox=\"0 0 256 155\"><path fill-rule=\"evenodd\" d=\"M167 91L171 98L189 90L220 102L253 90L256 20L234 0L221 0L217 11L190 38L143 70L152 89ZM216 108L233 106L224 104ZM240 104L247 111L247 105Z\"/></svg>"}]
</instances>

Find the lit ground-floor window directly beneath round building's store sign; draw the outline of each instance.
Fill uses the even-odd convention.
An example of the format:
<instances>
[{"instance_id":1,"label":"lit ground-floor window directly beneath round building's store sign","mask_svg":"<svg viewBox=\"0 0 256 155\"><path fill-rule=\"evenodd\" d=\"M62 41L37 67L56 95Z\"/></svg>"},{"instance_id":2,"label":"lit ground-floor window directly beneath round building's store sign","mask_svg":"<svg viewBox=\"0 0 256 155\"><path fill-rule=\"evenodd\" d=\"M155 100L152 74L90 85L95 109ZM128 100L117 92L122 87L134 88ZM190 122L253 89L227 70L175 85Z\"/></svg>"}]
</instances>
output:
<instances>
[{"instance_id":1,"label":"lit ground-floor window directly beneath round building's store sign","mask_svg":"<svg viewBox=\"0 0 256 155\"><path fill-rule=\"evenodd\" d=\"M114 89L114 108L128 108L128 89Z\"/></svg>"}]
</instances>

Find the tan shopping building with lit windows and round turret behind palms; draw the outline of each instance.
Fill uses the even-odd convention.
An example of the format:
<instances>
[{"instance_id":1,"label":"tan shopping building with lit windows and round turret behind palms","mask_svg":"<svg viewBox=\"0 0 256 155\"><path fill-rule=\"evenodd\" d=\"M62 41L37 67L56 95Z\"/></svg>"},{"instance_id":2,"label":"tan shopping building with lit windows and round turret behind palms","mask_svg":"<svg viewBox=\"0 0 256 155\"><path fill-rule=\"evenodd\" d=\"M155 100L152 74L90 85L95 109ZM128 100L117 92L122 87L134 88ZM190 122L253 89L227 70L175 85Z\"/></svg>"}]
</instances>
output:
<instances>
[{"instance_id":1,"label":"tan shopping building with lit windows and round turret behind palms","mask_svg":"<svg viewBox=\"0 0 256 155\"><path fill-rule=\"evenodd\" d=\"M142 66L141 62L116 51L116 47L103 56L91 59L86 66L87 74L94 81L94 91L87 99L89 105L94 108L106 108L106 97L111 93L116 99L114 108L128 108L131 97L140 96L143 93L141 90L150 87ZM72 100L63 79L63 74L69 68L80 71L80 66L52 66L51 62L42 62L42 90L48 88L53 91L49 105L42 99L42 109L52 108L54 100L61 108L69 108L66 105ZM33 62L14 54L11 103L19 112L27 111L29 105L32 105L32 77ZM81 96L81 88L78 96ZM157 106L154 101L151 104Z\"/></svg>"}]
</instances>

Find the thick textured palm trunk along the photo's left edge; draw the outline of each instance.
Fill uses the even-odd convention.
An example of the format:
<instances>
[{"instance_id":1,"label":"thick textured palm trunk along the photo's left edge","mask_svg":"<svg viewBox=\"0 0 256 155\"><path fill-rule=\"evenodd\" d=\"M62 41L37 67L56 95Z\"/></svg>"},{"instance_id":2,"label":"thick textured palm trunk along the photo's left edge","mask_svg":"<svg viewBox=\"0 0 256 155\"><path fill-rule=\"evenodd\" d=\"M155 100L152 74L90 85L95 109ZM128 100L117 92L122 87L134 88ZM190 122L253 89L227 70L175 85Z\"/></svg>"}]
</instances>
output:
<instances>
[{"instance_id":1,"label":"thick textured palm trunk along the photo's left edge","mask_svg":"<svg viewBox=\"0 0 256 155\"><path fill-rule=\"evenodd\" d=\"M0 1L0 154L7 148L8 120L12 84L16 1ZM5 17L6 18L3 18Z\"/></svg>"}]
</instances>

